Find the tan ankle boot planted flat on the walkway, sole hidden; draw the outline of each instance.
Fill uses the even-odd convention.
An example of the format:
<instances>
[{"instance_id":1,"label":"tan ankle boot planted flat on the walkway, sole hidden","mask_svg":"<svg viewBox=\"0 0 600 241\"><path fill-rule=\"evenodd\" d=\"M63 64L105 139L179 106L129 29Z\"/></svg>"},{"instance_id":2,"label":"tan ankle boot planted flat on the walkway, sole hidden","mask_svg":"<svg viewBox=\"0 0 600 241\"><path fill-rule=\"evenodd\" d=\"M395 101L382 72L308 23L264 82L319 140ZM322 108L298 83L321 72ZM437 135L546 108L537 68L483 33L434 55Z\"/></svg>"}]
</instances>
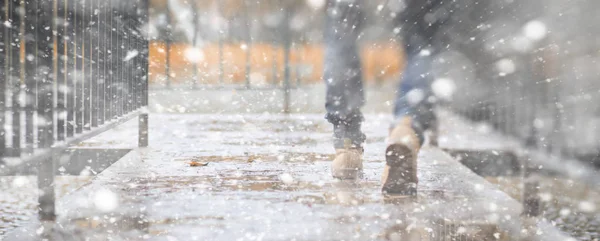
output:
<instances>
[{"instance_id":1,"label":"tan ankle boot planted flat on the walkway, sole hidden","mask_svg":"<svg viewBox=\"0 0 600 241\"><path fill-rule=\"evenodd\" d=\"M362 155L360 147L353 147L347 143L344 149L335 150L335 159L331 163L331 175L334 178L353 180L362 174Z\"/></svg>"}]
</instances>

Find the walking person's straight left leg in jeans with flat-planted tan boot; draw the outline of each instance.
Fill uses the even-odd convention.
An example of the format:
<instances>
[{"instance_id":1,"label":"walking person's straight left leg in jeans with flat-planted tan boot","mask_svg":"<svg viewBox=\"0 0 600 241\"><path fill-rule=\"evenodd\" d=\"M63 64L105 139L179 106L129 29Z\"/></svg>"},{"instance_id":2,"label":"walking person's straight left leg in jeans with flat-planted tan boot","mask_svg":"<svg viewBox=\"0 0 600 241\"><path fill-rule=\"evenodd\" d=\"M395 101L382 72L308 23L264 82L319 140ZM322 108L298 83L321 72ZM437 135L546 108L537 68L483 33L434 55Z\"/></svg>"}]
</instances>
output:
<instances>
[{"instance_id":1,"label":"walking person's straight left leg in jeans with flat-planted tan boot","mask_svg":"<svg viewBox=\"0 0 600 241\"><path fill-rule=\"evenodd\" d=\"M325 20L326 119L334 127L336 159L332 174L336 178L353 179L362 171L361 131L364 105L362 69L358 45L360 1L327 1Z\"/></svg>"}]
</instances>

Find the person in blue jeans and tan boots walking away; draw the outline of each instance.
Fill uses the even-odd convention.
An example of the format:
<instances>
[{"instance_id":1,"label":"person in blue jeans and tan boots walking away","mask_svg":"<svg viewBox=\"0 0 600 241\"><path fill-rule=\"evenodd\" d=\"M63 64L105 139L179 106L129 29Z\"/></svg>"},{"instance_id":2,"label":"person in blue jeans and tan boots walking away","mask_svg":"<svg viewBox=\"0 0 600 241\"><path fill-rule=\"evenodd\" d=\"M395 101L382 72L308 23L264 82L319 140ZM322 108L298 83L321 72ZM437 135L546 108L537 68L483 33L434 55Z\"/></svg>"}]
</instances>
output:
<instances>
[{"instance_id":1,"label":"person in blue jeans and tan boots walking away","mask_svg":"<svg viewBox=\"0 0 600 241\"><path fill-rule=\"evenodd\" d=\"M402 1L402 0L391 0ZM325 20L326 119L333 125L336 157L331 173L338 179L357 179L362 173L365 134L360 108L365 103L358 40L364 22L363 1L327 0ZM386 143L382 192L417 194L417 156L424 132L437 129L435 97L430 74L439 51L436 34L448 17L442 0L404 0L406 8L395 19L401 26L406 68L397 91L394 121ZM435 140L430 142L435 143Z\"/></svg>"}]
</instances>

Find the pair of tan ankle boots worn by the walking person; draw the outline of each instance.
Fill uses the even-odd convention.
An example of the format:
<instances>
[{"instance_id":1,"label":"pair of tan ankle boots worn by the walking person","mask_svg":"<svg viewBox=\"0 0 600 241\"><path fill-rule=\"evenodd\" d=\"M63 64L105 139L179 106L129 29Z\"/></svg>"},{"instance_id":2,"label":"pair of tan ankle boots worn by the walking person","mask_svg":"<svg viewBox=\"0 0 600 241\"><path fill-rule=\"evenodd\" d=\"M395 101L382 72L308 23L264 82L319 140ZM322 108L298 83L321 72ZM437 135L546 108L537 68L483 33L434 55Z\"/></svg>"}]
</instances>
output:
<instances>
[{"instance_id":1,"label":"pair of tan ankle boots worn by the walking person","mask_svg":"<svg viewBox=\"0 0 600 241\"><path fill-rule=\"evenodd\" d=\"M421 148L421 138L411 124L411 118L401 119L390 130L385 150L385 168L381 177L381 191L387 195L415 196L417 194L417 154ZM346 145L336 150L336 158L331 164L334 178L357 179L362 174L360 147Z\"/></svg>"}]
</instances>

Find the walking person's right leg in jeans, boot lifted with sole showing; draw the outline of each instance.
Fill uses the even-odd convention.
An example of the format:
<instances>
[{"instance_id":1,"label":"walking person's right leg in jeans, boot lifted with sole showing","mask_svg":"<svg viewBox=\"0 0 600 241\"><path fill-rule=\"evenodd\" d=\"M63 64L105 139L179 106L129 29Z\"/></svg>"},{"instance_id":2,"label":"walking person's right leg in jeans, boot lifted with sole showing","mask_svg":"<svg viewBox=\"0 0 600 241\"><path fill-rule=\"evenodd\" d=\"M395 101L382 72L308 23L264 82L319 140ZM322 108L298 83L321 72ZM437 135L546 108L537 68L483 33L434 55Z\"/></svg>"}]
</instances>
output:
<instances>
[{"instance_id":1,"label":"walking person's right leg in jeans, boot lifted with sole showing","mask_svg":"<svg viewBox=\"0 0 600 241\"><path fill-rule=\"evenodd\" d=\"M417 193L417 155L424 143L425 130L435 130L431 66L436 53L432 40L439 28L424 22L441 1L409 1L403 21L406 67L397 92L394 122L386 147L382 175L384 194L414 196Z\"/></svg>"}]
</instances>

